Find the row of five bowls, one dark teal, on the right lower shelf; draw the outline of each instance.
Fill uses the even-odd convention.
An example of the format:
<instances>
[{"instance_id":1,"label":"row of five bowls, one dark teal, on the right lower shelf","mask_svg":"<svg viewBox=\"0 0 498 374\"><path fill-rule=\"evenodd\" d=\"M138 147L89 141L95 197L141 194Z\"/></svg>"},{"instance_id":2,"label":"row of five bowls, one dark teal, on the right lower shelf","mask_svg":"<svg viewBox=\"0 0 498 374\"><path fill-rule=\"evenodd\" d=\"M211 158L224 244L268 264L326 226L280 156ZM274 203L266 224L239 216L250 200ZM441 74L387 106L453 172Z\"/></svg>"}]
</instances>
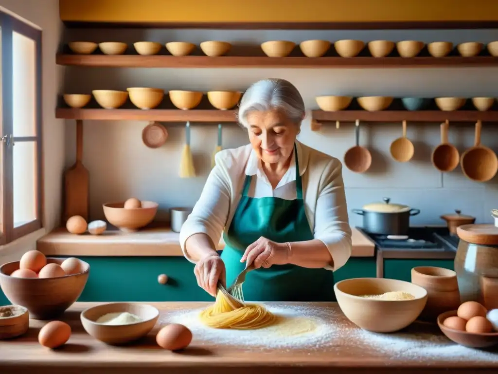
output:
<instances>
[{"instance_id":1,"label":"row of five bowls, one dark teal, on the right lower shelf","mask_svg":"<svg viewBox=\"0 0 498 374\"><path fill-rule=\"evenodd\" d=\"M353 101L352 96L317 96L315 98L318 107L325 112L335 112L346 109ZM360 106L369 111L376 112L387 109L394 98L392 96L364 96L358 97ZM404 97L401 99L407 110L421 110L426 107L432 99L421 97ZM443 111L455 111L467 102L463 97L436 97L436 105ZM495 103L493 97L473 97L472 103L479 111L489 110Z\"/></svg>"}]
</instances>

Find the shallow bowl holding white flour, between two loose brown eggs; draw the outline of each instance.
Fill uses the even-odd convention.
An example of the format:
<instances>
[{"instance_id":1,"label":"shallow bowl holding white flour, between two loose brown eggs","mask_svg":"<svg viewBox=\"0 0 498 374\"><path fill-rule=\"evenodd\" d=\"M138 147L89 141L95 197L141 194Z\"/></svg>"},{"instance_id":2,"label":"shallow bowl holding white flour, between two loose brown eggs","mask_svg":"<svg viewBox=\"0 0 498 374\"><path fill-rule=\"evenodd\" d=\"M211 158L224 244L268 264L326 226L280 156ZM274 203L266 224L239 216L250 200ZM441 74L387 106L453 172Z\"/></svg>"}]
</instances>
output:
<instances>
[{"instance_id":1,"label":"shallow bowl holding white flour, between two loose brown eggs","mask_svg":"<svg viewBox=\"0 0 498 374\"><path fill-rule=\"evenodd\" d=\"M100 317L108 313L128 312L143 321L129 325L105 325L97 323ZM146 336L155 326L159 311L151 305L135 303L110 303L98 305L81 313L81 324L85 331L101 342L120 345Z\"/></svg>"}]
</instances>

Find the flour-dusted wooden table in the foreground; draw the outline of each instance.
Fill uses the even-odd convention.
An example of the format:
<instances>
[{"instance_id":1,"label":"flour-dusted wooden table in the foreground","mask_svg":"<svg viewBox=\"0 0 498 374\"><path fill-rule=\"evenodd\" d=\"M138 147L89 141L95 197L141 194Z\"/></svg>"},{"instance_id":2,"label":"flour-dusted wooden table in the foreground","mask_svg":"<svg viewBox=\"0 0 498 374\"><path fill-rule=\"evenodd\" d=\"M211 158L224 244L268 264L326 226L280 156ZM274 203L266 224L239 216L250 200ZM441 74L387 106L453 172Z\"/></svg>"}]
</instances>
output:
<instances>
[{"instance_id":1,"label":"flour-dusted wooden table in the foreground","mask_svg":"<svg viewBox=\"0 0 498 374\"><path fill-rule=\"evenodd\" d=\"M83 330L80 313L92 305L97 303L75 303L61 318L71 325L73 333L60 349L49 350L38 344L38 331L44 321L31 320L26 335L0 341L0 373L498 373L497 350L481 352L454 345L442 336L437 326L430 324L414 323L402 334L395 335L365 332L349 322L336 303L267 304L286 310L308 310L307 314L312 313L324 321L323 326L332 331L330 339L320 340L317 332L317 342L307 347L251 347L226 338L217 343L205 339L206 330L196 333L196 329L191 328L192 344L176 353L159 348L155 333L172 321L175 314L186 313L194 318L195 310L209 303L151 303L161 312L154 330L143 340L122 347L105 345Z\"/></svg>"}]
</instances>

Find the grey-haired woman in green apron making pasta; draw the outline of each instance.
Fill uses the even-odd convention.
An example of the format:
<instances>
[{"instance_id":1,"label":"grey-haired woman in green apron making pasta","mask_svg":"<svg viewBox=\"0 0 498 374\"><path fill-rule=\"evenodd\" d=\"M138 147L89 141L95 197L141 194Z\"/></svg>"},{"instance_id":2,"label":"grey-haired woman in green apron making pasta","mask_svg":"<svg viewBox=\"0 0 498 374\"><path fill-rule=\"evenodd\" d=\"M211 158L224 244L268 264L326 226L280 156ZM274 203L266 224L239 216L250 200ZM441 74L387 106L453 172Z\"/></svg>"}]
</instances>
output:
<instances>
[{"instance_id":1,"label":"grey-haired woman in green apron making pasta","mask_svg":"<svg viewBox=\"0 0 498 374\"><path fill-rule=\"evenodd\" d=\"M333 271L351 255L342 164L296 140L304 115L301 95L283 79L258 81L244 94L239 121L250 144L216 155L180 232L211 295L252 264L246 300L335 300Z\"/></svg>"}]
</instances>

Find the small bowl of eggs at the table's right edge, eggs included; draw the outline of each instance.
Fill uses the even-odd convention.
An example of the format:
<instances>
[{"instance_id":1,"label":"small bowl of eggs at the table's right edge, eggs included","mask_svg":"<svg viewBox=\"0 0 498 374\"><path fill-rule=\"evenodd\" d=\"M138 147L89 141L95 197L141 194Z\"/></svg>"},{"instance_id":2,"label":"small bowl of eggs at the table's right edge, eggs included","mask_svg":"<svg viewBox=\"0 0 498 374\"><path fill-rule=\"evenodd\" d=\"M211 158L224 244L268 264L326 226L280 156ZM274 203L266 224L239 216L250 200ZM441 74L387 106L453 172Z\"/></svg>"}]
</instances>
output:
<instances>
[{"instance_id":1,"label":"small bowl of eggs at the table's right edge, eggs included","mask_svg":"<svg viewBox=\"0 0 498 374\"><path fill-rule=\"evenodd\" d=\"M476 301L467 301L458 310L441 313L437 324L448 339L462 346L498 345L498 309L488 311Z\"/></svg>"}]
</instances>

